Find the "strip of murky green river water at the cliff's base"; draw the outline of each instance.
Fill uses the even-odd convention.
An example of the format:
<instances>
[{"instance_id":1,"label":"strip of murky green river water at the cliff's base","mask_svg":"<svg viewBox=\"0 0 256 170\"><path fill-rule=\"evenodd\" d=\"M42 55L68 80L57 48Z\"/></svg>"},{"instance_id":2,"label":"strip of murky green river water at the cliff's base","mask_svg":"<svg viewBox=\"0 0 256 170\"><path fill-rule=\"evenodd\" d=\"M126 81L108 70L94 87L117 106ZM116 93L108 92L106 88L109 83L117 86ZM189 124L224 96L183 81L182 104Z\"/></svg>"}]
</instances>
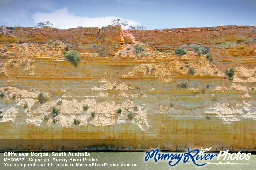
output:
<instances>
[{"instance_id":1,"label":"strip of murky green river water at the cliff's base","mask_svg":"<svg viewBox=\"0 0 256 170\"><path fill-rule=\"evenodd\" d=\"M27 153L27 156L25 155L19 156L19 153L16 153L17 156L5 156L4 153L0 153L0 169L1 170L216 170L216 169L218 170L256 170L256 155L250 155L249 160L223 160L223 157L217 160L217 157L214 157L212 160L196 161L197 164L204 164L207 162L210 162L210 163L221 162L222 164L222 165L206 164L200 167L200 166L196 166L191 161L191 159L190 161L183 163L184 158L182 158L181 161L175 166L168 165L168 160L159 160L158 162L155 162L154 160L152 160L153 159L152 158L146 162L145 152L86 152L86 153L89 153L90 156L68 156L69 153L75 154L78 152L65 152L65 153L56 152L56 153L62 154L62 156L61 155L53 156L51 152L48 152L49 156L41 156L41 157L39 155L31 156L30 152ZM79 153L85 153L85 152L79 152ZM175 152L164 152L164 153L175 154ZM178 152L177 154L182 154L182 152ZM208 153L208 154L217 154L217 153ZM7 158L10 158L9 161L7 161ZM14 158L14 159L11 159L11 158ZM21 159L17 159L17 158L21 158ZM60 160L56 161L59 158ZM70 158L71 159L75 158L75 160L74 159L71 160ZM36 159L41 159L41 160L39 160L40 162L36 162ZM174 161L174 163L175 162L176 161ZM227 164L225 165L224 163L227 163ZM40 167L40 164L41 164L41 167ZM42 164L44 164L44 167L42 167ZM100 164L102 165L101 167L99 167ZM134 167L128 167L129 164L130 166L134 166ZM29 167L24 167L24 165ZM88 167L88 166L91 166L91 167ZM121 167L121 166L125 166L125 167Z\"/></svg>"}]
</instances>

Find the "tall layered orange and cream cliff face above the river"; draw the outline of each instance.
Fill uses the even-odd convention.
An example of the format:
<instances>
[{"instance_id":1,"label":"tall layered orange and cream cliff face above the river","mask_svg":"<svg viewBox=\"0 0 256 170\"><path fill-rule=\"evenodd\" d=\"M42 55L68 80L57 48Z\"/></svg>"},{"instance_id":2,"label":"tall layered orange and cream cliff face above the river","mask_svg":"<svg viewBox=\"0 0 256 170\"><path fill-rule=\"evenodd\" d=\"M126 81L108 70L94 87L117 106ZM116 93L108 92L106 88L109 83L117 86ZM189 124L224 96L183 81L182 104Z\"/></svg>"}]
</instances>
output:
<instances>
[{"instance_id":1,"label":"tall layered orange and cream cliff face above the river","mask_svg":"<svg viewBox=\"0 0 256 170\"><path fill-rule=\"evenodd\" d=\"M66 44L81 54L77 67L63 55ZM144 54L134 52L136 44ZM193 51L198 45L209 47L211 63ZM178 47L188 53L176 55ZM256 151L256 27L0 27L0 64L0 139L13 139L3 140L1 151ZM53 106L60 109L56 117Z\"/></svg>"}]
</instances>

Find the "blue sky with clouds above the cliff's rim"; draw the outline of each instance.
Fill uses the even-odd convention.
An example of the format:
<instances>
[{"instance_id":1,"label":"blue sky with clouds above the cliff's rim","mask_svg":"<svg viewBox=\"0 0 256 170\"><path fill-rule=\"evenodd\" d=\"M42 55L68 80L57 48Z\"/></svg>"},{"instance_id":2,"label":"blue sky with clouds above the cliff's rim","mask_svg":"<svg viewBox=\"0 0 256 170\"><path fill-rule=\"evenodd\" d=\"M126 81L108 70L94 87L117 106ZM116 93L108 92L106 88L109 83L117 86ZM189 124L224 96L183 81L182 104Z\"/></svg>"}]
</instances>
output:
<instances>
[{"instance_id":1,"label":"blue sky with clouds above the cliff's rim","mask_svg":"<svg viewBox=\"0 0 256 170\"><path fill-rule=\"evenodd\" d=\"M117 18L147 30L255 26L256 0L0 0L0 25L5 26L49 21L61 29L101 28Z\"/></svg>"}]
</instances>

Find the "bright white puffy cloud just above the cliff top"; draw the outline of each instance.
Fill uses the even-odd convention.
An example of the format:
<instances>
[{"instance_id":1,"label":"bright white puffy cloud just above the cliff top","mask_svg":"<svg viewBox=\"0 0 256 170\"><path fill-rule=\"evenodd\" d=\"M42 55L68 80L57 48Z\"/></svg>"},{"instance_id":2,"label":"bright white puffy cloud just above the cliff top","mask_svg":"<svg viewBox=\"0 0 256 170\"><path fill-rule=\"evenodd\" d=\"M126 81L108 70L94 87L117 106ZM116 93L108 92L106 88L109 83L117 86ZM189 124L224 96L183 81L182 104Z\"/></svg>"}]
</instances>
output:
<instances>
[{"instance_id":1,"label":"bright white puffy cloud just above the cliff top","mask_svg":"<svg viewBox=\"0 0 256 170\"><path fill-rule=\"evenodd\" d=\"M35 13L32 18L35 23L49 21L54 24L54 28L76 28L77 26L82 27L103 27L111 24L111 20L121 18L115 16L108 17L79 17L68 12L67 8L56 10L52 13ZM124 19L122 19L124 20ZM133 20L127 20L129 25L141 25L139 22Z\"/></svg>"}]
</instances>

